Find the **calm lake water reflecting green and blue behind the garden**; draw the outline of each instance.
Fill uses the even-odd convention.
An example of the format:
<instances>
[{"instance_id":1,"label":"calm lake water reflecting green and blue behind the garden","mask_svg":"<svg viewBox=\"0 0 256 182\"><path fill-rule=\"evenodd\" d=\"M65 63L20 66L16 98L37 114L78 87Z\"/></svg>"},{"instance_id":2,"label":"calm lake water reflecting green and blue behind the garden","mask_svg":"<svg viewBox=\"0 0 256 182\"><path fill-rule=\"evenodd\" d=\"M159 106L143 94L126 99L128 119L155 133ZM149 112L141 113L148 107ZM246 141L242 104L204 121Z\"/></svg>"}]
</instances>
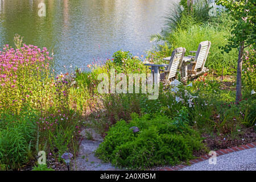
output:
<instances>
[{"instance_id":1,"label":"calm lake water reflecting green and blue behind the garden","mask_svg":"<svg viewBox=\"0 0 256 182\"><path fill-rule=\"evenodd\" d=\"M39 3L46 16L39 16ZM163 16L176 0L0 0L0 44L23 42L54 52L57 71L86 68L123 49L145 55L150 35L161 30ZM40 11L42 12L42 11Z\"/></svg>"}]
</instances>

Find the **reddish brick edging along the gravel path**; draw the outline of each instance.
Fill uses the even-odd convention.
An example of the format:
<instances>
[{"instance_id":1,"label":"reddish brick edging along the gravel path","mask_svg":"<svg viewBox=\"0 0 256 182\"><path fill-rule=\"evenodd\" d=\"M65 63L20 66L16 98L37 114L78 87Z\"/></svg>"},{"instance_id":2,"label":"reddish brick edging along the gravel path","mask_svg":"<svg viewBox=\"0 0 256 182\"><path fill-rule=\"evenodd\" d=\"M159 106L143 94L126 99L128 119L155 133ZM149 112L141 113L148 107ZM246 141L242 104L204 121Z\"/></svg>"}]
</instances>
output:
<instances>
[{"instance_id":1,"label":"reddish brick edging along the gravel path","mask_svg":"<svg viewBox=\"0 0 256 182\"><path fill-rule=\"evenodd\" d=\"M246 149L254 148L254 147L256 147L256 142L243 144L240 147L232 147L232 148L221 149L221 150L216 151L216 154L217 154L217 156L220 156L220 155L225 155L225 154L229 154L229 153L232 153L232 152L246 150ZM211 156L208 155L208 154L207 155L201 155L200 158L189 160L189 164L196 164L196 163L202 162L204 160L208 160L210 157ZM171 167L161 167L161 168L158 168L158 171L177 171L177 170L182 169L182 168L187 167L187 166L189 166L189 165L180 164L180 165L171 166Z\"/></svg>"}]
</instances>

